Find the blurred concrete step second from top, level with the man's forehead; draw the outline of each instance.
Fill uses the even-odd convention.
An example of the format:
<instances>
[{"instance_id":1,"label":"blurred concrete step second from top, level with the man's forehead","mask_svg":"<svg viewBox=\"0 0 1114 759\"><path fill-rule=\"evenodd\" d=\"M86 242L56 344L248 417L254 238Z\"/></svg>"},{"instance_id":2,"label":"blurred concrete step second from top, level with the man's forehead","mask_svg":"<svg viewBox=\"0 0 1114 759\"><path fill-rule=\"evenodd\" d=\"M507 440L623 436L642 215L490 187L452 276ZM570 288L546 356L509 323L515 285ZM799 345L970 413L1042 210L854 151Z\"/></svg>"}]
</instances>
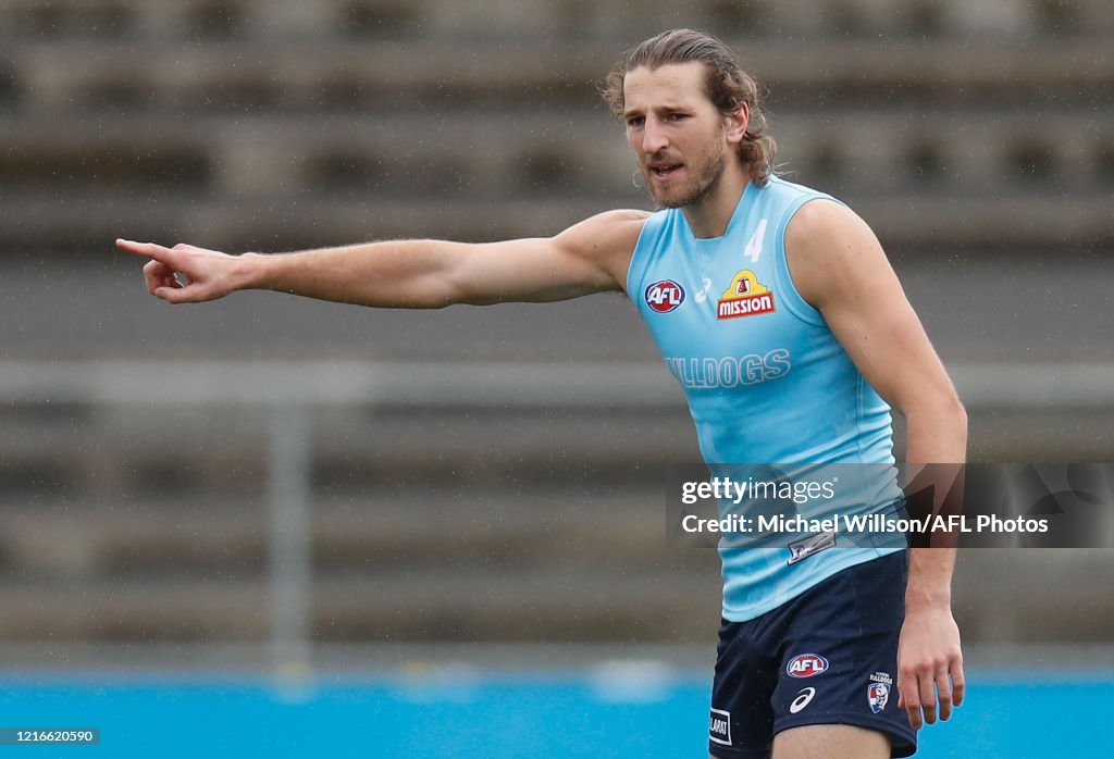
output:
<instances>
[{"instance_id":1,"label":"blurred concrete step second from top, level with the man's forehead","mask_svg":"<svg viewBox=\"0 0 1114 759\"><path fill-rule=\"evenodd\" d=\"M449 0L443 0L448 2ZM453 7L463 7L452 3ZM1106 12L1105 28L1110 28ZM1101 26L1101 24L1100 24ZM659 29L661 27L658 27ZM931 43L902 36L819 37L808 45L730 38L743 61L772 90L776 107L832 103L918 107L937 102L1030 108L1034 92L1059 105L1102 102L1114 79L1107 40L1097 32L1057 39L962 37ZM0 79L6 99L23 111L130 112L255 110L319 111L598 102L597 82L623 47L641 37L420 37L367 40L314 34L272 40L75 40L59 47L36 36L4 40ZM1068 55L1069 53L1069 55ZM1097 99L1096 99L1097 98Z\"/></svg>"}]
</instances>

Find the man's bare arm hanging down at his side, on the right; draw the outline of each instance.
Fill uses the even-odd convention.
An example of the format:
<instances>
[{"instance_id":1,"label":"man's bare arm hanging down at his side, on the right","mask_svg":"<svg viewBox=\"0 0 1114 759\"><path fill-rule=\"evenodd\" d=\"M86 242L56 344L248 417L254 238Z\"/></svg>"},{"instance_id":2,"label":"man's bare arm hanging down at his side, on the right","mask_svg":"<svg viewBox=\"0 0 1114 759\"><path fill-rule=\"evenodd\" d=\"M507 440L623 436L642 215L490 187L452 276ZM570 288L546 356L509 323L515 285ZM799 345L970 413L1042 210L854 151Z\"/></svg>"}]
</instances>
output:
<instances>
[{"instance_id":1,"label":"man's bare arm hanging down at his side, on the right","mask_svg":"<svg viewBox=\"0 0 1114 759\"><path fill-rule=\"evenodd\" d=\"M844 206L811 201L786 228L785 255L802 297L823 314L867 381L906 417L907 461L962 464L967 414L870 227ZM955 548L910 550L897 686L898 703L916 729L937 716L948 719L964 698L959 630L951 615L955 553Z\"/></svg>"}]
</instances>

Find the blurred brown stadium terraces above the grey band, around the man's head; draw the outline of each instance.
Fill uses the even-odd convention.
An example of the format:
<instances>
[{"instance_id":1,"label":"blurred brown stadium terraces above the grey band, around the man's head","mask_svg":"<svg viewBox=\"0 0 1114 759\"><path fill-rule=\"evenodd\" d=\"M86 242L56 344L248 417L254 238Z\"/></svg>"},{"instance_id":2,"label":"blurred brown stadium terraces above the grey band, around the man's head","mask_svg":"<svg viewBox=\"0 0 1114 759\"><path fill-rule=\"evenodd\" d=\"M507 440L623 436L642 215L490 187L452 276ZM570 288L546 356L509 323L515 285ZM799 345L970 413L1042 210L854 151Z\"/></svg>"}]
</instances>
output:
<instances>
[{"instance_id":1,"label":"blurred brown stadium terraces above the grey band, around the man's head","mask_svg":"<svg viewBox=\"0 0 1114 759\"><path fill-rule=\"evenodd\" d=\"M295 247L307 224L317 245L476 239L641 205L595 88L678 23L736 45L785 170L887 244L1110 240L1106 3L643 4L0 2L0 252L135 219L234 248ZM1073 223L1004 219L1049 201Z\"/></svg>"}]
</instances>

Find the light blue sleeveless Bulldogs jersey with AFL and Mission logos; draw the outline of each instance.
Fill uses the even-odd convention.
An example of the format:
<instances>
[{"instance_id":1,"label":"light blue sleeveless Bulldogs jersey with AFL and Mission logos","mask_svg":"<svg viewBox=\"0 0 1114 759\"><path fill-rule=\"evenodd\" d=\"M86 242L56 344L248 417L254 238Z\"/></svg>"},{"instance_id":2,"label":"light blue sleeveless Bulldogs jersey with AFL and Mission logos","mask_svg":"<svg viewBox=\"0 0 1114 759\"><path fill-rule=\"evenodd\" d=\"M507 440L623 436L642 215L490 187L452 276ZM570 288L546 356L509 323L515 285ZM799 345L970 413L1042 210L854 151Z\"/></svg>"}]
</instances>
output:
<instances>
[{"instance_id":1,"label":"light blue sleeveless Bulldogs jersey with AFL and Mission logos","mask_svg":"<svg viewBox=\"0 0 1114 759\"><path fill-rule=\"evenodd\" d=\"M709 464L893 462L889 406L797 292L785 263L785 227L818 198L832 199L771 177L763 188L746 186L723 237L696 238L684 214L668 209L646 219L638 238L627 293L684 388ZM873 502L847 511L869 513L901 497L892 480L860 492ZM734 543L721 540L720 554L723 617L736 622L901 548L836 548L794 560L784 536L763 543L770 548Z\"/></svg>"}]
</instances>

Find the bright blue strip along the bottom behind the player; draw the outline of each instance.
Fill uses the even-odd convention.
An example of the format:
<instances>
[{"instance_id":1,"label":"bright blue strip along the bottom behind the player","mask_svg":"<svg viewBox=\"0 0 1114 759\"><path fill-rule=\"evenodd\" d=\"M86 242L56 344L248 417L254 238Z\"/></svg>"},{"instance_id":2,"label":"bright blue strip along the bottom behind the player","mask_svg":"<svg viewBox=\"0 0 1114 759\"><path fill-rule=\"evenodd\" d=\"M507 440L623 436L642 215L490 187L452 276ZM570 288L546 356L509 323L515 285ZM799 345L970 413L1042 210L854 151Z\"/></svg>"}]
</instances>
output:
<instances>
[{"instance_id":1,"label":"bright blue strip along the bottom behind the player","mask_svg":"<svg viewBox=\"0 0 1114 759\"><path fill-rule=\"evenodd\" d=\"M1114 756L1102 724L1111 673L1025 680L969 673L951 722L921 733L919 757ZM569 674L189 682L119 673L0 681L0 727L97 727L99 747L0 747L0 756L705 757L707 682L629 690ZM1081 729L1089 726L1091 729Z\"/></svg>"}]
</instances>

